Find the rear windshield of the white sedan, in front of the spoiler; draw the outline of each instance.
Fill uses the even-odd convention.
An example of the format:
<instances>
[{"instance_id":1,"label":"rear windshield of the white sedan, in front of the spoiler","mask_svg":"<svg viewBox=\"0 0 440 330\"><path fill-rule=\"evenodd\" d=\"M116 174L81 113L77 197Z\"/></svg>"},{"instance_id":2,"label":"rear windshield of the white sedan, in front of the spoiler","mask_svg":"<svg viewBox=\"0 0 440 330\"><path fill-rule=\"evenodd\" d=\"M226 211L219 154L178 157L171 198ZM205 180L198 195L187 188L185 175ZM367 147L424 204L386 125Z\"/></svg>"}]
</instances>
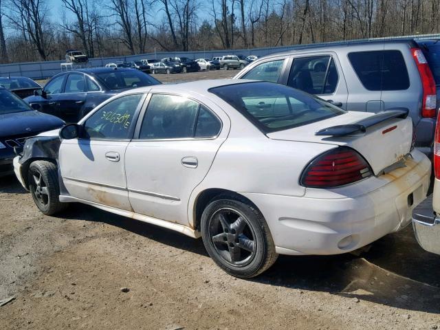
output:
<instances>
[{"instance_id":1,"label":"rear windshield of the white sedan, in front of the spoiler","mask_svg":"<svg viewBox=\"0 0 440 330\"><path fill-rule=\"evenodd\" d=\"M346 112L303 91L275 83L241 83L209 91L241 112L263 133L292 129Z\"/></svg>"}]
</instances>

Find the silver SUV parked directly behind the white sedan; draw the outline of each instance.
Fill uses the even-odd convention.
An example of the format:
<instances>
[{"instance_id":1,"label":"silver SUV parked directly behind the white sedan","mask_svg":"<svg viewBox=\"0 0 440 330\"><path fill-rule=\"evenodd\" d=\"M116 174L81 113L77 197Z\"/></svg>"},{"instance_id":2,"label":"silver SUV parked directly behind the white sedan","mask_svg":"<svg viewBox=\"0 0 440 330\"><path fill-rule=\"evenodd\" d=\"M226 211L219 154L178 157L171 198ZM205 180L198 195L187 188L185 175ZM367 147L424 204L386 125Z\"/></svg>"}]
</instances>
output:
<instances>
[{"instance_id":1,"label":"silver SUV parked directly behind the white sedan","mask_svg":"<svg viewBox=\"0 0 440 330\"><path fill-rule=\"evenodd\" d=\"M345 110L407 108L415 124L417 148L432 157L440 105L437 41L397 39L309 46L259 58L234 79L280 83Z\"/></svg>"}]
</instances>

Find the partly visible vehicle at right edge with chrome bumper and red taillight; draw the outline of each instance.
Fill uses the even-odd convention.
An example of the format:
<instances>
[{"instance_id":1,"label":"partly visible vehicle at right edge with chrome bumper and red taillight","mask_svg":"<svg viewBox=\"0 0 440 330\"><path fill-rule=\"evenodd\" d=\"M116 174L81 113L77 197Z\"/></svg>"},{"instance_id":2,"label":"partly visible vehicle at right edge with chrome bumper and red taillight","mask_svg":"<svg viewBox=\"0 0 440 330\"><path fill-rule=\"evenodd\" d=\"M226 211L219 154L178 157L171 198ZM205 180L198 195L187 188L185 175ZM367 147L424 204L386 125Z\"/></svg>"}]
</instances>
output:
<instances>
[{"instance_id":1,"label":"partly visible vehicle at right edge with chrome bumper and red taillight","mask_svg":"<svg viewBox=\"0 0 440 330\"><path fill-rule=\"evenodd\" d=\"M432 56L432 54L431 54ZM437 67L438 68L438 67ZM440 254L440 121L434 137L434 191L412 212L417 242L428 252Z\"/></svg>"}]
</instances>

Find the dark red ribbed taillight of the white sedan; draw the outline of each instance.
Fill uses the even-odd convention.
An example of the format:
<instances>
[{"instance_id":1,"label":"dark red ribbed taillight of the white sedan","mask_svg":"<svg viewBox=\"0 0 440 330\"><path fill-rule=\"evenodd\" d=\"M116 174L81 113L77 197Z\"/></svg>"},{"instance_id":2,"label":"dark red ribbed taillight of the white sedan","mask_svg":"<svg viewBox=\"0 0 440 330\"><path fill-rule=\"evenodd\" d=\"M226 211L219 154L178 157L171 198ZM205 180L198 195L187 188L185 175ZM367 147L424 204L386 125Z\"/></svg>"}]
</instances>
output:
<instances>
[{"instance_id":1,"label":"dark red ribbed taillight of the white sedan","mask_svg":"<svg viewBox=\"0 0 440 330\"><path fill-rule=\"evenodd\" d=\"M340 146L316 157L303 171L300 184L309 188L334 188L371 177L371 172L359 153Z\"/></svg>"}]
</instances>

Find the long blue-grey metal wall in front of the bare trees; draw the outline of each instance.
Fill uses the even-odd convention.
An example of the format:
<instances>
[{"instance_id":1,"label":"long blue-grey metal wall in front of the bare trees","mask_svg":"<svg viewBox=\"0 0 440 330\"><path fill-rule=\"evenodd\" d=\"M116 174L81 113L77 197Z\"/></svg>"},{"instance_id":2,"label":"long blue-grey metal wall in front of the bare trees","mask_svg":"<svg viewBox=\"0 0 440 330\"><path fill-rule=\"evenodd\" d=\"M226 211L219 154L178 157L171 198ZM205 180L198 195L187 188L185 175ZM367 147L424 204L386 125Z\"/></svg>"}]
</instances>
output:
<instances>
[{"instance_id":1,"label":"long blue-grey metal wall in front of the bare trees","mask_svg":"<svg viewBox=\"0 0 440 330\"><path fill-rule=\"evenodd\" d=\"M265 56L278 52L285 52L288 50L305 49L308 47L325 47L334 45L349 45L351 43L381 41L390 39L440 39L440 34L415 34L410 36L390 36L384 38L371 39L355 39L349 41L330 41L326 43L313 43L305 45L289 45L281 47L264 47L253 48L247 50L210 50L197 52L154 52L147 54L138 54L131 56L115 56L105 58L89 58L87 67L104 67L107 63L115 61L139 61L144 58L165 58L165 57L189 57L189 58L212 58L214 56L223 56L228 54L242 54ZM32 79L43 79L52 77L61 72L61 63L65 61L44 61L44 62L30 62L30 63L11 63L0 65L0 76L26 76Z\"/></svg>"}]
</instances>

